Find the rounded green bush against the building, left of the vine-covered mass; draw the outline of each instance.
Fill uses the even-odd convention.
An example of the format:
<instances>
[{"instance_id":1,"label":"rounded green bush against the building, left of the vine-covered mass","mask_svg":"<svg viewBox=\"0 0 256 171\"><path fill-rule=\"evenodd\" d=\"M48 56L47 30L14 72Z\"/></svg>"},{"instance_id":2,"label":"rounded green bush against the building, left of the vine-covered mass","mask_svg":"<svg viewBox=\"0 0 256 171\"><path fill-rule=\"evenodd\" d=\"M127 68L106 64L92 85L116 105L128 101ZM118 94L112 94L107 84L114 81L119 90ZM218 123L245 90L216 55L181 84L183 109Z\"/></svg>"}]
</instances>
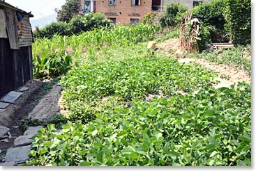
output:
<instances>
[{"instance_id":1,"label":"rounded green bush against the building, left of the vine-covered mass","mask_svg":"<svg viewBox=\"0 0 256 171\"><path fill-rule=\"evenodd\" d=\"M188 8L183 3L167 3L165 12L160 17L161 26L177 26L183 22L187 10Z\"/></svg>"}]
</instances>

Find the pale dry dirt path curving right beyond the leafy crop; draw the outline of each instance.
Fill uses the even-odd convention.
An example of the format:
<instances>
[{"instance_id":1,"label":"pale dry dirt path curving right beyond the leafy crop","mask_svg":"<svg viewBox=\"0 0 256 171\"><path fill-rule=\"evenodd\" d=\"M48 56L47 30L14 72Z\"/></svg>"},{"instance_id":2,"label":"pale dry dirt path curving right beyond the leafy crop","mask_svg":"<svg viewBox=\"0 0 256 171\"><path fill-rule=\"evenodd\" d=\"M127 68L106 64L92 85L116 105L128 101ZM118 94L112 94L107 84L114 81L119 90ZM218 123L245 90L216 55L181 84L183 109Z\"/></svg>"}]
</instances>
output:
<instances>
[{"instance_id":1,"label":"pale dry dirt path curving right beyond the leafy crop","mask_svg":"<svg viewBox=\"0 0 256 171\"><path fill-rule=\"evenodd\" d=\"M188 56L186 52L181 51L179 48L179 39L170 39L166 40L161 44L157 44L158 49L161 52L166 54L167 56L172 56L173 58L177 58L181 63L198 63L202 65L202 67L206 67L211 70L215 70L218 73L218 81L220 83L215 86L215 88L220 87L229 87L232 84L239 83L245 81L246 83L251 82L251 77L243 70L236 70L234 67L229 65L217 65L216 63L209 63L207 60L199 59L199 58L181 58L184 56ZM225 75L228 79L221 79L220 76Z\"/></svg>"}]
</instances>

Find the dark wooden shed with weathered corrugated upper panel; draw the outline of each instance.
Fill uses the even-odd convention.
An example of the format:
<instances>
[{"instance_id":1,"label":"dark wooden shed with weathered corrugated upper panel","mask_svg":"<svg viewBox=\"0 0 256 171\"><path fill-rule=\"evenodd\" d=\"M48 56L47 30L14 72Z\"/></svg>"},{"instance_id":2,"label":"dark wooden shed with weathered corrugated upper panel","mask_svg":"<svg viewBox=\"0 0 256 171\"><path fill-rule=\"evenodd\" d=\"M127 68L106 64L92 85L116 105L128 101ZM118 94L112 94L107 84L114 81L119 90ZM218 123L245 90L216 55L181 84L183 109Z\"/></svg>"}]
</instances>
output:
<instances>
[{"instance_id":1,"label":"dark wooden shed with weathered corrugated upper panel","mask_svg":"<svg viewBox=\"0 0 256 171\"><path fill-rule=\"evenodd\" d=\"M33 79L31 13L0 1L0 97Z\"/></svg>"}]
</instances>

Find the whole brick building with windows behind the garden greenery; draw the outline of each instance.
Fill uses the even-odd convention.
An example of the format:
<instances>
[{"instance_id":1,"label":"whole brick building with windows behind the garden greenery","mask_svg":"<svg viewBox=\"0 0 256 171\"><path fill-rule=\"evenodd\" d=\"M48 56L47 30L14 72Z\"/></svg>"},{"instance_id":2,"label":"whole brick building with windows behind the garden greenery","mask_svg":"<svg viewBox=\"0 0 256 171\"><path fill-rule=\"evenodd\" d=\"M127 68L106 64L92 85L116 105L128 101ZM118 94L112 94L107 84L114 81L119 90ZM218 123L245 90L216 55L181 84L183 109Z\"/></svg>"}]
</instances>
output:
<instances>
[{"instance_id":1,"label":"whole brick building with windows behind the garden greenery","mask_svg":"<svg viewBox=\"0 0 256 171\"><path fill-rule=\"evenodd\" d=\"M82 13L103 13L114 23L128 24L140 22L146 13L162 11L170 2L184 3L188 8L199 2L211 0L81 0Z\"/></svg>"}]
</instances>

